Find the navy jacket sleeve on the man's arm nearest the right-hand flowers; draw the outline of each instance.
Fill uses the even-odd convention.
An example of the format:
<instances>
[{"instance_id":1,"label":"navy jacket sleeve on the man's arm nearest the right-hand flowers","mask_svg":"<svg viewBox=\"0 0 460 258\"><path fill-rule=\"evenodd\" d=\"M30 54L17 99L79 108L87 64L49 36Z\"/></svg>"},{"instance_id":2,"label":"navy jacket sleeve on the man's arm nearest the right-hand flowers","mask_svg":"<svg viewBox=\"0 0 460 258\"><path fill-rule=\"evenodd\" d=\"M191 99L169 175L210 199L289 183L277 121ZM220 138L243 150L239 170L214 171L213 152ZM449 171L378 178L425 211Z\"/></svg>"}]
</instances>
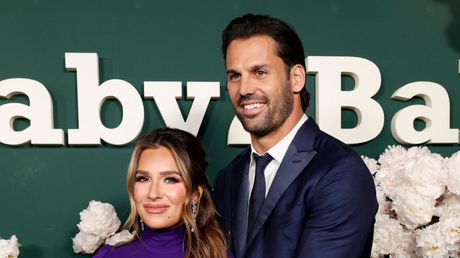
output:
<instances>
[{"instance_id":1,"label":"navy jacket sleeve on the man's arm nearest the right-hand flowers","mask_svg":"<svg viewBox=\"0 0 460 258\"><path fill-rule=\"evenodd\" d=\"M378 203L366 165L347 157L322 176L307 201L309 219L298 257L359 258L370 256Z\"/></svg>"}]
</instances>

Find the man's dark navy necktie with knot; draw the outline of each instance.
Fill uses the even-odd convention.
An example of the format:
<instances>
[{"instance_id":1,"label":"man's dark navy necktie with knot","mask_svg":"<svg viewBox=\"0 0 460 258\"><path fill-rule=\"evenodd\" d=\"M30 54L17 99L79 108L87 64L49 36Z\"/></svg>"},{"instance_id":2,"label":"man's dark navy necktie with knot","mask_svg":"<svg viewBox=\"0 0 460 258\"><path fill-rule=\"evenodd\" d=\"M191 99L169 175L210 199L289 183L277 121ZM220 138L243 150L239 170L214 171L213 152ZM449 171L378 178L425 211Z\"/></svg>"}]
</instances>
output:
<instances>
[{"instance_id":1,"label":"man's dark navy necktie with knot","mask_svg":"<svg viewBox=\"0 0 460 258\"><path fill-rule=\"evenodd\" d=\"M256 159L256 175L254 177L253 190L249 198L249 212L247 214L247 236L253 231L257 217L259 216L260 208L265 201L265 167L273 160L270 154L257 155L254 154Z\"/></svg>"}]
</instances>

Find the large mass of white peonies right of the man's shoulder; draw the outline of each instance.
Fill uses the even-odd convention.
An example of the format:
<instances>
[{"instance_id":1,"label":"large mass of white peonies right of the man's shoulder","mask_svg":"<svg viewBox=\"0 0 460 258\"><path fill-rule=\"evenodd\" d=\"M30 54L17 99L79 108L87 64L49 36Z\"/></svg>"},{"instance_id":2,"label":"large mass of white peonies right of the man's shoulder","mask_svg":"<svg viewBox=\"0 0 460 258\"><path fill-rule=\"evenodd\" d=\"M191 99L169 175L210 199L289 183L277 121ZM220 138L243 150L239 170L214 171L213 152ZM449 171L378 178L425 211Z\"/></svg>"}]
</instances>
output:
<instances>
[{"instance_id":1,"label":"large mass of white peonies right of the man's shoulder","mask_svg":"<svg viewBox=\"0 0 460 258\"><path fill-rule=\"evenodd\" d=\"M379 202L371 257L460 257L460 151L393 145L378 161L361 158Z\"/></svg>"}]
</instances>

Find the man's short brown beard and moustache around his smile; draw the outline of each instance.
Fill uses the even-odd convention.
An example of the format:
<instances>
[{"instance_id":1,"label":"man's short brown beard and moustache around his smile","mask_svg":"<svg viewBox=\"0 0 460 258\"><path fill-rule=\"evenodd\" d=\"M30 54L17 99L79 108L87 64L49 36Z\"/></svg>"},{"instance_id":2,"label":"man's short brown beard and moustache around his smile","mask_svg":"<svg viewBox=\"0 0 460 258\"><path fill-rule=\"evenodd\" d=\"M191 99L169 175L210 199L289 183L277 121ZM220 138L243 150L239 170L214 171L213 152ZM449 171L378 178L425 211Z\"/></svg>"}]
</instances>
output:
<instances>
[{"instance_id":1,"label":"man's short brown beard and moustache around his smile","mask_svg":"<svg viewBox=\"0 0 460 258\"><path fill-rule=\"evenodd\" d=\"M241 110L243 101L265 102L265 110L253 115L244 115ZM233 105L233 110L247 132L257 136L265 136L276 132L293 111L294 100L291 84L286 81L284 89L274 97L273 103L266 96L245 95L240 97L236 105ZM259 122L257 123L253 121L256 117L259 117Z\"/></svg>"}]
</instances>

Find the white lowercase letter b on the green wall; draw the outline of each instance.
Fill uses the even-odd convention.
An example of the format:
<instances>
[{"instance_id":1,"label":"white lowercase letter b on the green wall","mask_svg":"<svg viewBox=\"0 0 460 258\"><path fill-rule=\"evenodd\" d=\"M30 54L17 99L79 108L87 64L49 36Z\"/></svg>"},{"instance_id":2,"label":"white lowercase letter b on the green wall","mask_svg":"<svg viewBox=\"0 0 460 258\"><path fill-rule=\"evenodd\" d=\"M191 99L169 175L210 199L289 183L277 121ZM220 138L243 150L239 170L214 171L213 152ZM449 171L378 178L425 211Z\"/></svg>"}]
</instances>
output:
<instances>
[{"instance_id":1,"label":"white lowercase letter b on the green wall","mask_svg":"<svg viewBox=\"0 0 460 258\"><path fill-rule=\"evenodd\" d=\"M69 129L70 145L101 145L101 139L115 146L127 145L144 125L144 105L138 91L128 82L111 79L99 85L96 53L65 53L65 67L77 71L78 129ZM118 127L102 124L100 109L105 100L120 101L123 118Z\"/></svg>"}]
</instances>

